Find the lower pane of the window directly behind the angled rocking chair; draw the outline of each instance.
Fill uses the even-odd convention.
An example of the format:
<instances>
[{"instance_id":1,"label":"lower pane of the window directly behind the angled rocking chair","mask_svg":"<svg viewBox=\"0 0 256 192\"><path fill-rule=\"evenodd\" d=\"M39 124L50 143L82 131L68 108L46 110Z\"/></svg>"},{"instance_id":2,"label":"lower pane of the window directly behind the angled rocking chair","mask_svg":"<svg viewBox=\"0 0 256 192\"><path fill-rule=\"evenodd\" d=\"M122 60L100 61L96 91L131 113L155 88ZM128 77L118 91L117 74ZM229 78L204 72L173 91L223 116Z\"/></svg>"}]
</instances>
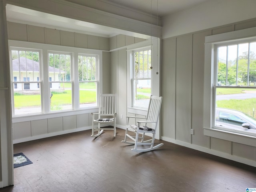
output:
<instances>
[{"instance_id":1,"label":"lower pane of the window directly behind the angled rocking chair","mask_svg":"<svg viewBox=\"0 0 256 192\"><path fill-rule=\"evenodd\" d=\"M134 80L134 106L147 107L151 95L151 80Z\"/></svg>"}]
</instances>

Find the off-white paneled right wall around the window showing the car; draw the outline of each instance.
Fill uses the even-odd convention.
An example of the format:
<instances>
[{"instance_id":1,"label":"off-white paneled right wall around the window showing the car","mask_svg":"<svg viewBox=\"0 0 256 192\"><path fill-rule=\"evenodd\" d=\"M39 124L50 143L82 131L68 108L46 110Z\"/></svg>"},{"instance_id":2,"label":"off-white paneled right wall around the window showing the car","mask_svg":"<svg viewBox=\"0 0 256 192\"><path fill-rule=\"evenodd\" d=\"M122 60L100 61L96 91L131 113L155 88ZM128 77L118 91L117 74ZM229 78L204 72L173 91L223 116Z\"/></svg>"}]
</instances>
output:
<instances>
[{"instance_id":1,"label":"off-white paneled right wall around the window showing the car","mask_svg":"<svg viewBox=\"0 0 256 192\"><path fill-rule=\"evenodd\" d=\"M255 146L204 133L205 37L255 26L256 18L162 40L163 140L256 166Z\"/></svg>"}]
</instances>

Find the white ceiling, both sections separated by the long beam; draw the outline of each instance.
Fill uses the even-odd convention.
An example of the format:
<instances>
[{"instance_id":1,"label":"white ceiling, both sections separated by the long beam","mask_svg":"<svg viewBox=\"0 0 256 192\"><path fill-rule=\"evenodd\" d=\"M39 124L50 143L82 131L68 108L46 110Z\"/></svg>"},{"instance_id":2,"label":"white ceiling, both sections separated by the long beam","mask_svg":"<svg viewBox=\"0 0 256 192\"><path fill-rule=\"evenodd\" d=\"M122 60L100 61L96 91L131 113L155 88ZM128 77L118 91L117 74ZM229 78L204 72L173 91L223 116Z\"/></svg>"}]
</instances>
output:
<instances>
[{"instance_id":1,"label":"white ceiling, both sections separated by the long beam","mask_svg":"<svg viewBox=\"0 0 256 192\"><path fill-rule=\"evenodd\" d=\"M78 0L79 1L79 0ZM146 14L156 15L159 18L196 6L208 0L100 0L117 6L122 6L144 12ZM19 22L59 30L75 31L85 34L93 34L104 37L112 37L117 34L126 34L123 30L92 24L70 18L64 18L52 14L38 12L14 5L6 6L7 20L10 22Z\"/></svg>"}]
</instances>

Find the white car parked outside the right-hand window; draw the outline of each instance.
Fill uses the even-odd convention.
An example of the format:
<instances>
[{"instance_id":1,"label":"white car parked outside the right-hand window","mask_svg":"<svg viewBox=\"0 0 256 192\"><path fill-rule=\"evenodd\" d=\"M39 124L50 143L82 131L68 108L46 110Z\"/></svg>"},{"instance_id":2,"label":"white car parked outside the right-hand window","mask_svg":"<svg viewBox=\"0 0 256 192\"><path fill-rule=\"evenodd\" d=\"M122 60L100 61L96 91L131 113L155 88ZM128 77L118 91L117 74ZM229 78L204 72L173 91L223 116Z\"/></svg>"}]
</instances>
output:
<instances>
[{"instance_id":1,"label":"white car parked outside the right-hand window","mask_svg":"<svg viewBox=\"0 0 256 192\"><path fill-rule=\"evenodd\" d=\"M256 119L237 110L216 108L216 126L234 128L234 126L247 129L256 129Z\"/></svg>"}]
</instances>

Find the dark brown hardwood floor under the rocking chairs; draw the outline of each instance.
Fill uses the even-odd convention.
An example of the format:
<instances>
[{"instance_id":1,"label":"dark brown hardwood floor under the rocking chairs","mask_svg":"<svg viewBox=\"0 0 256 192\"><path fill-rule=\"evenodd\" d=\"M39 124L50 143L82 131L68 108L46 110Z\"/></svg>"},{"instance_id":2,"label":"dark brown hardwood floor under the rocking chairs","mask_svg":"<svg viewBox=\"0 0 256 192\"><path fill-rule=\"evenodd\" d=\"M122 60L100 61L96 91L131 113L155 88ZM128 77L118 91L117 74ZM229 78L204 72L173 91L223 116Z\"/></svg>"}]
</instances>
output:
<instances>
[{"instance_id":1,"label":"dark brown hardwood floor under the rocking chairs","mask_svg":"<svg viewBox=\"0 0 256 192\"><path fill-rule=\"evenodd\" d=\"M14 144L33 164L14 169L14 186L1 192L246 192L256 168L164 142L137 154L125 131L91 130ZM158 143L159 140L156 140Z\"/></svg>"}]
</instances>

